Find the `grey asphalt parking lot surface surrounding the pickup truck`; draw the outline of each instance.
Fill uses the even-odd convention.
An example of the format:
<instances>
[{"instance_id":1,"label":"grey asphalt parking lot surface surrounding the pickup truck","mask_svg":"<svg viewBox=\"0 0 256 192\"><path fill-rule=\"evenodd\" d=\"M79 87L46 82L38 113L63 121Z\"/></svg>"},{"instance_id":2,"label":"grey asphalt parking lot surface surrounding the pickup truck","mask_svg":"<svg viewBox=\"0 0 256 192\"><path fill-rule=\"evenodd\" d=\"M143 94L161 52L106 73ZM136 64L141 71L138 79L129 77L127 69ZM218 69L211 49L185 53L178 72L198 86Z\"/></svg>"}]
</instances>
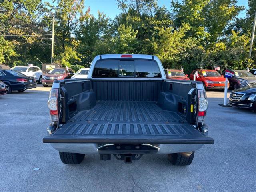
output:
<instances>
[{"instance_id":1,"label":"grey asphalt parking lot surface surrounding the pickup truck","mask_svg":"<svg viewBox=\"0 0 256 192\"><path fill-rule=\"evenodd\" d=\"M62 164L42 142L49 90L38 85L0 96L0 191L256 191L256 113L219 106L224 92L207 92L206 124L214 145L196 151L192 164L182 167L164 154L132 164L99 155Z\"/></svg>"}]
</instances>

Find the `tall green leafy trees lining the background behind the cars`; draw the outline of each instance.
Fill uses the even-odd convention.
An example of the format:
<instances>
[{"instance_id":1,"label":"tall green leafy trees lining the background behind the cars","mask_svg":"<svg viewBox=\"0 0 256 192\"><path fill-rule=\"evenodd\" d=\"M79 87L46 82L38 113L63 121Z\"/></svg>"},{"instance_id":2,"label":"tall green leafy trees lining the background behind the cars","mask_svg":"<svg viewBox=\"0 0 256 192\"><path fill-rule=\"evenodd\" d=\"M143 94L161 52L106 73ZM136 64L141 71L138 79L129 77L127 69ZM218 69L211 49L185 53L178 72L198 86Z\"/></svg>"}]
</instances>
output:
<instances>
[{"instance_id":1,"label":"tall green leafy trees lining the background behind the cars","mask_svg":"<svg viewBox=\"0 0 256 192\"><path fill-rule=\"evenodd\" d=\"M10 66L51 60L52 16L55 12L54 62L75 71L89 67L98 54L156 55L165 68L220 66L256 68L256 38L248 59L255 0L248 0L245 18L236 0L117 0L114 20L84 11L84 0L0 1L0 63ZM86 1L85 1L86 4ZM6 36L9 35L9 36ZM34 36L10 36L34 35Z\"/></svg>"}]
</instances>

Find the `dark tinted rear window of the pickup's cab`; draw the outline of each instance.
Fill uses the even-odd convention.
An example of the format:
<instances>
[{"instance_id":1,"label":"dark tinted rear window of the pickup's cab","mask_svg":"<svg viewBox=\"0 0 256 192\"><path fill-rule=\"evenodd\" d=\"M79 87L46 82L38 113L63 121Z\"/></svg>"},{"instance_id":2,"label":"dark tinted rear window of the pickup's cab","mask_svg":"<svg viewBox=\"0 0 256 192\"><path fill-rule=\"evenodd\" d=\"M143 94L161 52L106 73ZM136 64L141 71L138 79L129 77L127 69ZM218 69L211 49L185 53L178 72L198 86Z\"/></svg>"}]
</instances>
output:
<instances>
[{"instance_id":1,"label":"dark tinted rear window of the pickup's cab","mask_svg":"<svg viewBox=\"0 0 256 192\"><path fill-rule=\"evenodd\" d=\"M92 77L161 78L154 60L98 60Z\"/></svg>"}]
</instances>

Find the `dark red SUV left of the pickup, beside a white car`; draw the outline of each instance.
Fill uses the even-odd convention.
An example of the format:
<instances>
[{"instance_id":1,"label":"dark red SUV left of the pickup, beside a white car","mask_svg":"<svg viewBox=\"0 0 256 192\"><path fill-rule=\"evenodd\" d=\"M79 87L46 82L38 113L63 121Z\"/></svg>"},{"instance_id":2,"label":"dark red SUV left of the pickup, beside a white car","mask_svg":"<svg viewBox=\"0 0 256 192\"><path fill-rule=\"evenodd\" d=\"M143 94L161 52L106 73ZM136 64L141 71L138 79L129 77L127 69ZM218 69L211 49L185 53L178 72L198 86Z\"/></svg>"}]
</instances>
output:
<instances>
[{"instance_id":1,"label":"dark red SUV left of the pickup, beside a white car","mask_svg":"<svg viewBox=\"0 0 256 192\"><path fill-rule=\"evenodd\" d=\"M73 75L72 69L67 68L53 68L42 77L42 84L44 87L52 85L55 80L70 79Z\"/></svg>"}]
</instances>

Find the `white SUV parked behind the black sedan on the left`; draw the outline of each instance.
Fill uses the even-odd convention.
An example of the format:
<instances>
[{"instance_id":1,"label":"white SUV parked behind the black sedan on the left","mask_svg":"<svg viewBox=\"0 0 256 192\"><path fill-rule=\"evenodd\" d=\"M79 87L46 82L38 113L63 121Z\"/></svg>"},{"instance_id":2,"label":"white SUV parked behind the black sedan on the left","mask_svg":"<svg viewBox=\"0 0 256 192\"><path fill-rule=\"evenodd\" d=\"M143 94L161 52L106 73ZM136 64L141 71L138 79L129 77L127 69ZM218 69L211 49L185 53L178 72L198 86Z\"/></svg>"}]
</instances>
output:
<instances>
[{"instance_id":1,"label":"white SUV parked behind the black sedan on the left","mask_svg":"<svg viewBox=\"0 0 256 192\"><path fill-rule=\"evenodd\" d=\"M26 76L33 76L38 83L41 83L43 72L37 66L14 66L11 69L21 72Z\"/></svg>"}]
</instances>

